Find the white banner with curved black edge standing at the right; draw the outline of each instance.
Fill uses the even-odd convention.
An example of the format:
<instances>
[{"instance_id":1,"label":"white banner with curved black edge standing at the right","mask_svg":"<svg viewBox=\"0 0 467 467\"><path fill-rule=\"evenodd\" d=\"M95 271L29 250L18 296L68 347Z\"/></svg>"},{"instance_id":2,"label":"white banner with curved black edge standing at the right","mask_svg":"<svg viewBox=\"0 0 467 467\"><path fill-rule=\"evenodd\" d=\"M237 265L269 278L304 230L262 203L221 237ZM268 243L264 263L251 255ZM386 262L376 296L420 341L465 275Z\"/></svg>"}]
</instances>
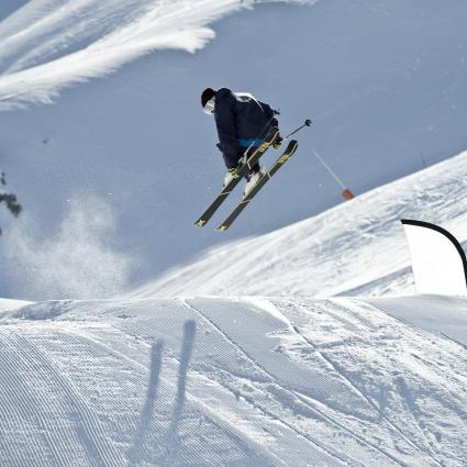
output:
<instances>
[{"instance_id":1,"label":"white banner with curved black edge standing at the right","mask_svg":"<svg viewBox=\"0 0 467 467\"><path fill-rule=\"evenodd\" d=\"M438 225L403 219L418 293L467 296L467 258L456 237Z\"/></svg>"}]
</instances>

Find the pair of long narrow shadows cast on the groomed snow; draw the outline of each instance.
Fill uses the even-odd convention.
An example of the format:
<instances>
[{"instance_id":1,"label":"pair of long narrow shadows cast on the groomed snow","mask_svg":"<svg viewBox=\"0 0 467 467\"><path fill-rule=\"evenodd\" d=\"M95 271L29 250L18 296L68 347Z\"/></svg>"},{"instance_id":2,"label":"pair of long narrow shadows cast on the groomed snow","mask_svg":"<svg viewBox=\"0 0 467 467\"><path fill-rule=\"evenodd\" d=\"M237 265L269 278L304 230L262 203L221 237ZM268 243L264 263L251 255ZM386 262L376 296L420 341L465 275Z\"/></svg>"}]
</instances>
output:
<instances>
[{"instance_id":1,"label":"pair of long narrow shadows cast on the groomed snow","mask_svg":"<svg viewBox=\"0 0 467 467\"><path fill-rule=\"evenodd\" d=\"M170 424L165 436L162 437L162 453L155 459L155 465L166 465L173 460L178 452L178 427L182 420L186 401L188 367L194 344L196 323L187 321L184 324L184 340L178 365L177 396L170 416ZM129 453L129 466L135 467L145 457L145 442L151 438L152 421L155 414L156 400L159 387L159 376L163 360L162 341L154 343L151 349L151 374L147 385L146 399L141 412L140 426L133 437L133 444Z\"/></svg>"}]
</instances>

